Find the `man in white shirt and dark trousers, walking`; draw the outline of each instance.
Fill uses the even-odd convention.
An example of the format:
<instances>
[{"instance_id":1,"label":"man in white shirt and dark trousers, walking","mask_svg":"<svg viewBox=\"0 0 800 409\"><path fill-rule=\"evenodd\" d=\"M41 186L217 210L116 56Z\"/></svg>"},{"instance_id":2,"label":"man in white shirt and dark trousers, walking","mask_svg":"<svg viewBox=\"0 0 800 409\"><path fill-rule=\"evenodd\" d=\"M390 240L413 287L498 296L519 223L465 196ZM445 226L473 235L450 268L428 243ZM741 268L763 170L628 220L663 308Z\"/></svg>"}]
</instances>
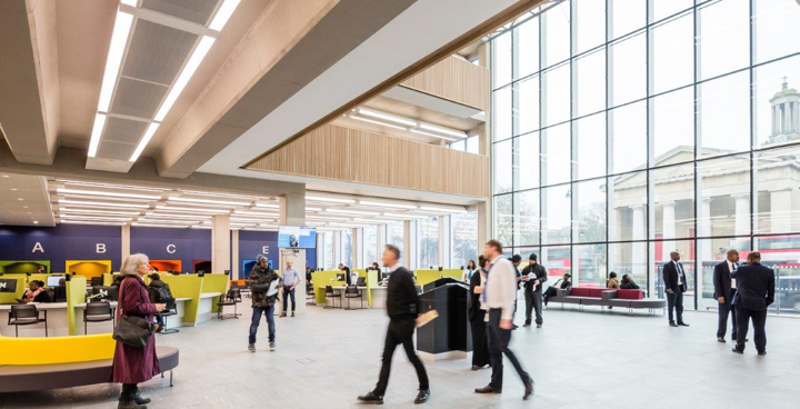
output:
<instances>
[{"instance_id":1,"label":"man in white shirt and dark trousers, walking","mask_svg":"<svg viewBox=\"0 0 800 409\"><path fill-rule=\"evenodd\" d=\"M522 399L527 400L533 393L533 379L522 369L513 351L509 349L511 328L517 300L517 271L511 261L502 257L502 243L489 240L483 248L483 257L489 261L486 286L481 305L489 309L487 313L487 338L489 340L489 357L491 359L491 382L476 389L476 393L502 393L502 356L506 355L524 385Z\"/></svg>"}]
</instances>

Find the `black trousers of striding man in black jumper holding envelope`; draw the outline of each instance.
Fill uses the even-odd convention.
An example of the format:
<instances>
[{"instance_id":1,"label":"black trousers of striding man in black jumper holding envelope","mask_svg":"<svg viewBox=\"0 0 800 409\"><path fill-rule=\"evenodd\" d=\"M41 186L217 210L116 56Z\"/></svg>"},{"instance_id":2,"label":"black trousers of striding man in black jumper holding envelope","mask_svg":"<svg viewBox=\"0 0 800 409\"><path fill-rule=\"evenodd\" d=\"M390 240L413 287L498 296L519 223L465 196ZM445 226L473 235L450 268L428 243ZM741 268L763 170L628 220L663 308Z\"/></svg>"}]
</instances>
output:
<instances>
[{"instance_id":1,"label":"black trousers of striding man in black jumper holding envelope","mask_svg":"<svg viewBox=\"0 0 800 409\"><path fill-rule=\"evenodd\" d=\"M392 319L391 321L389 321L386 343L383 345L381 373L378 378L378 385L376 385L376 389L372 391L372 393L377 396L383 396L386 393L386 388L389 385L389 373L391 372L391 359L392 356L394 356L394 348L397 348L397 346L399 345L403 346L403 349L406 350L406 356L417 370L417 378L420 381L420 389L430 389L430 386L428 385L428 373L426 372L424 366L417 356L417 352L414 352L413 348L414 326L416 320L413 318Z\"/></svg>"}]
</instances>

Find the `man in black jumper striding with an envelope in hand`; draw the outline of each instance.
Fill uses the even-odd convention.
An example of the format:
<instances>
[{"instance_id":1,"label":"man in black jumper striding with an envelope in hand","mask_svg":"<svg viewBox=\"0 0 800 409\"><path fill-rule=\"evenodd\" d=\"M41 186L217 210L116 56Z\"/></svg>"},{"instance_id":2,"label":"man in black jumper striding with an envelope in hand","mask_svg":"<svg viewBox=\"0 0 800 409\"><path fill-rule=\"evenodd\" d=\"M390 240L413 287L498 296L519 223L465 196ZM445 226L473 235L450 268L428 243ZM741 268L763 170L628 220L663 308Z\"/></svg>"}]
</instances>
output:
<instances>
[{"instance_id":1,"label":"man in black jumper striding with an envelope in hand","mask_svg":"<svg viewBox=\"0 0 800 409\"><path fill-rule=\"evenodd\" d=\"M414 403L424 403L430 398L430 386L428 373L422 361L417 357L413 346L414 328L419 323L419 295L414 286L411 271L400 266L400 249L387 245L383 250L383 266L389 268L389 285L387 286L387 313L389 315L389 329L387 330L386 345L383 346L383 359L380 378L374 390L360 396L359 400L368 403L383 403L383 393L389 385L389 372L391 360L397 346L402 345L406 356L417 370L420 387Z\"/></svg>"}]
</instances>

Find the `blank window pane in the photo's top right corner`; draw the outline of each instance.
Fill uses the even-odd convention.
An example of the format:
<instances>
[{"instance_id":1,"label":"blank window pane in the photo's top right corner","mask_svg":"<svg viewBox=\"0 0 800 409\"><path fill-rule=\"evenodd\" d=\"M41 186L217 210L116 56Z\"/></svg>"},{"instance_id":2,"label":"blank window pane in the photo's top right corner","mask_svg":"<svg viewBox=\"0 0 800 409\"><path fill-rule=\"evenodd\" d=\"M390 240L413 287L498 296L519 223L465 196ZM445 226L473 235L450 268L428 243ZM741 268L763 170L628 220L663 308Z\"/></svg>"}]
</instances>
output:
<instances>
[{"instance_id":1,"label":"blank window pane in the photo's top right corner","mask_svg":"<svg viewBox=\"0 0 800 409\"><path fill-rule=\"evenodd\" d=\"M800 51L798 21L800 21L800 6L797 0L753 1L754 63Z\"/></svg>"}]
</instances>

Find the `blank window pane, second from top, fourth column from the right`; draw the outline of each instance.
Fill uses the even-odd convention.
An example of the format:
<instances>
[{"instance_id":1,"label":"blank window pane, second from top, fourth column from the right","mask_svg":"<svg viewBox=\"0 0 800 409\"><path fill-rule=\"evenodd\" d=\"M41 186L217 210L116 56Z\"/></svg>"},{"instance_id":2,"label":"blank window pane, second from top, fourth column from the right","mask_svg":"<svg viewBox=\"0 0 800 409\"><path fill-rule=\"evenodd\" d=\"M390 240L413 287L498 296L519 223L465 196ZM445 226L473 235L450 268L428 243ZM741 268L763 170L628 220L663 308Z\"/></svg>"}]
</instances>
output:
<instances>
[{"instance_id":1,"label":"blank window pane, second from top, fourth column from the right","mask_svg":"<svg viewBox=\"0 0 800 409\"><path fill-rule=\"evenodd\" d=\"M609 47L612 107L647 94L647 52L644 34L627 38Z\"/></svg>"}]
</instances>

